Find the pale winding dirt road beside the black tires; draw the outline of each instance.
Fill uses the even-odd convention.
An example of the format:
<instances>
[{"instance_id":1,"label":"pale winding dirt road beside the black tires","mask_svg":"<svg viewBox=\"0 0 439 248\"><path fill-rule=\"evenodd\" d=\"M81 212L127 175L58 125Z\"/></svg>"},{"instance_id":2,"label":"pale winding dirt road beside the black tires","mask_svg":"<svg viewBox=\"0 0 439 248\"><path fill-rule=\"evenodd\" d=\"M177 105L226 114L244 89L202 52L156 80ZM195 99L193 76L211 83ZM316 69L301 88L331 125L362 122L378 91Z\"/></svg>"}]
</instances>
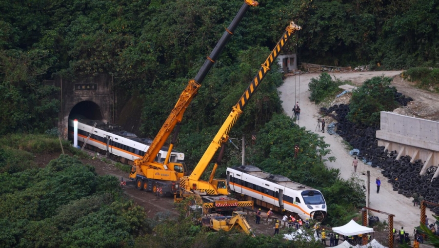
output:
<instances>
[{"instance_id":1,"label":"pale winding dirt road beside the black tires","mask_svg":"<svg viewBox=\"0 0 439 248\"><path fill-rule=\"evenodd\" d=\"M334 73L331 74L331 76L335 76L340 80L350 80L353 83L360 85L366 79L374 76L381 76L384 74L387 77L394 77L400 73L401 71L350 72ZM317 77L319 77L319 73L302 74L300 76L288 77L285 79L284 84L279 87L280 98L283 101L282 106L285 113L289 116L292 116L292 108L294 103L295 101L299 101L301 112L298 124L300 126L304 126L306 129L312 132L316 132L316 126L318 124L317 120L320 115L319 107L309 101L310 92L308 91L308 83L312 78ZM411 104L423 106L426 104L421 102L423 100L428 101L427 104L430 104L434 99L438 99L437 96L434 98L435 94L413 88L411 87L410 83L402 81L400 78L394 83L394 85L397 87L398 91L414 99L414 103ZM432 112L439 110L438 104L432 105L431 107L432 109L428 112L428 114L423 113L418 116L430 115ZM407 109L411 108L408 107ZM411 111L413 113L416 112L415 109ZM410 115L410 111L407 112L407 115ZM436 117L434 114L432 116L432 119L437 118L437 115ZM326 126L328 124L329 122L326 123ZM338 135L329 135L327 132L321 133L317 131L317 133L325 138L325 142L327 144L331 145L330 149L332 152L329 154L329 156L335 156L337 158L335 162L327 162L326 166L331 168L339 168L341 174L340 176L343 179L348 179L353 176L353 157L349 155L347 148L345 145L343 145L342 138ZM402 195L399 195L398 191L393 191L392 185L388 183L387 179L382 176L379 169L359 163L357 172L365 172L366 170L369 170L371 173L370 207L387 213L395 214L394 227L396 229L404 227L405 230L409 230L411 233L414 227L419 226L420 219L419 208L413 207L412 198L406 198ZM357 176L366 181L365 175L357 173ZM377 177L380 177L381 179L381 189L379 194L376 193L375 186L375 179ZM432 214L433 213L431 211L427 210L427 216L431 216ZM381 221L385 220L387 222L388 220L387 215L379 213L374 213L373 215L378 216ZM432 219L432 217L429 218Z\"/></svg>"}]
</instances>

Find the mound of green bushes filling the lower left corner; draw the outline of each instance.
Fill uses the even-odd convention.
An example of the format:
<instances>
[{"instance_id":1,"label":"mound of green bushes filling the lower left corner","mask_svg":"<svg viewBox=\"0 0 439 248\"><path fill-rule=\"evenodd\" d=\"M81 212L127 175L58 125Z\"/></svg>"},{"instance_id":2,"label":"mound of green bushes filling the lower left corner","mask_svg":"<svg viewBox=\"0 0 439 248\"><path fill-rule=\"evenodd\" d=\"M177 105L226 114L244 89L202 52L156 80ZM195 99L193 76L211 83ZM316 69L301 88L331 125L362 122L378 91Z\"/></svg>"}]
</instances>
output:
<instances>
[{"instance_id":1,"label":"mound of green bushes filling the lower left corner","mask_svg":"<svg viewBox=\"0 0 439 248\"><path fill-rule=\"evenodd\" d=\"M75 158L0 178L1 247L124 247L145 227L116 177Z\"/></svg>"}]
</instances>

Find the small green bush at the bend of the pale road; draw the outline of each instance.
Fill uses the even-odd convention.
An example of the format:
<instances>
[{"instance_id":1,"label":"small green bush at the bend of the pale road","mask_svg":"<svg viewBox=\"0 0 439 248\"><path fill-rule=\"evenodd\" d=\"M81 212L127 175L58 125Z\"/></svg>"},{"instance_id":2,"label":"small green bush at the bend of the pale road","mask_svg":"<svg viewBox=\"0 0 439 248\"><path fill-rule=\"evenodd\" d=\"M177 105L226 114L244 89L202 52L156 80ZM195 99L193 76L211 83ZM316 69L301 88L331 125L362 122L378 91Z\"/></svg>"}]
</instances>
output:
<instances>
[{"instance_id":1,"label":"small green bush at the bend of the pale road","mask_svg":"<svg viewBox=\"0 0 439 248\"><path fill-rule=\"evenodd\" d=\"M331 76L324 72L320 74L318 79L312 78L309 82L308 88L311 92L309 100L315 103L320 103L327 97L333 97L337 93L341 92L342 89L340 89L339 86L346 83L347 82L339 79L332 80Z\"/></svg>"}]
</instances>

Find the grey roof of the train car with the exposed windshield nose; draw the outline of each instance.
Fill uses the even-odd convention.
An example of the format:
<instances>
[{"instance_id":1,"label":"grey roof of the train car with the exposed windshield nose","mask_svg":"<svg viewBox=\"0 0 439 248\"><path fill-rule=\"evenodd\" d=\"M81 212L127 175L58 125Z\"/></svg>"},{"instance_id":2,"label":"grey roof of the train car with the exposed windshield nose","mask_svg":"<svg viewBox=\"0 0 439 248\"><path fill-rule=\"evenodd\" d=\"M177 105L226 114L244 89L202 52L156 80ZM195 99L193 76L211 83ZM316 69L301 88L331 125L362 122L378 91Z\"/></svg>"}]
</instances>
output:
<instances>
[{"instance_id":1,"label":"grey roof of the train car with the exposed windshield nose","mask_svg":"<svg viewBox=\"0 0 439 248\"><path fill-rule=\"evenodd\" d=\"M277 183L281 186L285 186L288 188L296 189L296 190L316 190L310 186L302 185L297 182L291 181L289 178L284 177L282 175L273 175L268 172L264 172L256 166L253 165L240 165L232 167L232 169L239 170L241 172L247 173L249 175L259 177L261 179Z\"/></svg>"}]
</instances>

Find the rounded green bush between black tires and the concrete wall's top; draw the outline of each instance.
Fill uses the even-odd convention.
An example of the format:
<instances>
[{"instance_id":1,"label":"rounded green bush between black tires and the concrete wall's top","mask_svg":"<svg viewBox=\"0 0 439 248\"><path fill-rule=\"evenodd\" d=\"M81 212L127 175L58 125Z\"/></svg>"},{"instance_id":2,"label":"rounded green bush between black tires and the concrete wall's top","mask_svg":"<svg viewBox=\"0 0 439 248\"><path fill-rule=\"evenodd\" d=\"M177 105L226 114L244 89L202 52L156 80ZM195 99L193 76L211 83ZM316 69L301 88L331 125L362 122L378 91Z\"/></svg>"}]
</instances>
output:
<instances>
[{"instance_id":1,"label":"rounded green bush between black tires and the concrete wall's top","mask_svg":"<svg viewBox=\"0 0 439 248\"><path fill-rule=\"evenodd\" d=\"M392 80L384 76L373 77L353 90L348 120L367 125L379 124L380 111L393 111L397 108L394 96L396 89L390 86Z\"/></svg>"}]
</instances>

